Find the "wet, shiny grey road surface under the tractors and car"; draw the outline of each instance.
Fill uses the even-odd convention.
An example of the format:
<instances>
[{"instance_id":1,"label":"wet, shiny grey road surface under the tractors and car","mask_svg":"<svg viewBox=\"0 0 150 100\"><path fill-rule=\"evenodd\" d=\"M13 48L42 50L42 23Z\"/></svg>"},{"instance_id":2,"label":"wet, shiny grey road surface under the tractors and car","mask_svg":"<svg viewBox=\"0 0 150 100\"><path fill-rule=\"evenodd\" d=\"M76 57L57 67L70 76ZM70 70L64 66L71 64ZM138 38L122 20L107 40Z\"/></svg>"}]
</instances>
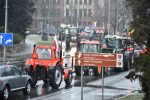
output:
<instances>
[{"instance_id":1,"label":"wet, shiny grey road surface under the tractors and car","mask_svg":"<svg viewBox=\"0 0 150 100\"><path fill-rule=\"evenodd\" d=\"M34 42L27 40L26 43L27 49L24 52L31 53ZM75 51L76 48L72 48L70 51L65 52L66 63L72 61L71 58L74 56ZM72 66L72 64L68 63L68 66ZM124 72L104 79L104 100L115 100L133 91L141 90L138 80L130 82L130 80L124 78L127 74L128 72ZM22 91L17 91L10 94L9 100L81 100L80 82L80 76L76 76L71 86L66 87L63 81L59 89L52 89L48 85L44 86L43 81L38 81L37 86L32 88L29 96L24 96ZM100 76L84 76L83 84L83 100L102 100L102 81Z\"/></svg>"}]
</instances>

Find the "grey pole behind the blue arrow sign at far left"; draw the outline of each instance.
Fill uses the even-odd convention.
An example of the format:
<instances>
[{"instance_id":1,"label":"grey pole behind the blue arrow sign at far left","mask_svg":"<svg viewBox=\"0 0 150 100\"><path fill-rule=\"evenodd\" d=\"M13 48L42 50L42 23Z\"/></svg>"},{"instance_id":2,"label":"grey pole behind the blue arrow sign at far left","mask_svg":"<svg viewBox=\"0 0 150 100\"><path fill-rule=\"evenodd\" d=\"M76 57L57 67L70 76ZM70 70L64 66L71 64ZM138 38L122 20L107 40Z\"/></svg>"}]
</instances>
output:
<instances>
[{"instance_id":1,"label":"grey pole behind the blue arrow sign at far left","mask_svg":"<svg viewBox=\"0 0 150 100\"><path fill-rule=\"evenodd\" d=\"M5 33L7 33L8 0L5 1ZM3 65L6 64L6 46L4 46Z\"/></svg>"}]
</instances>

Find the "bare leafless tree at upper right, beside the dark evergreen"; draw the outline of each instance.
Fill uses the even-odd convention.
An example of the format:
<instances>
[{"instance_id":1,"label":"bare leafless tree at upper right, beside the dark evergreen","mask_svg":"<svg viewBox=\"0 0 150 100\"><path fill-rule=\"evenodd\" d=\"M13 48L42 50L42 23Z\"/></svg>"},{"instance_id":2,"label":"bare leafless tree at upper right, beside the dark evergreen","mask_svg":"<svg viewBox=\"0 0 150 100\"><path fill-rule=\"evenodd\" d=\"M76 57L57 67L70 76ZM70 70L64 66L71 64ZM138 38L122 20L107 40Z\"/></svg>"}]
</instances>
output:
<instances>
[{"instance_id":1,"label":"bare leafless tree at upper right, beside the dark evergreen","mask_svg":"<svg viewBox=\"0 0 150 100\"><path fill-rule=\"evenodd\" d=\"M110 16L110 33L122 33L129 22L130 11L126 9L126 0L110 0L110 14L108 15L109 0L104 0L104 21L106 30L108 28L108 16ZM118 7L118 8L117 8ZM118 10L118 11L117 11ZM118 15L117 15L118 14ZM130 18L131 19L131 18Z\"/></svg>"}]
</instances>

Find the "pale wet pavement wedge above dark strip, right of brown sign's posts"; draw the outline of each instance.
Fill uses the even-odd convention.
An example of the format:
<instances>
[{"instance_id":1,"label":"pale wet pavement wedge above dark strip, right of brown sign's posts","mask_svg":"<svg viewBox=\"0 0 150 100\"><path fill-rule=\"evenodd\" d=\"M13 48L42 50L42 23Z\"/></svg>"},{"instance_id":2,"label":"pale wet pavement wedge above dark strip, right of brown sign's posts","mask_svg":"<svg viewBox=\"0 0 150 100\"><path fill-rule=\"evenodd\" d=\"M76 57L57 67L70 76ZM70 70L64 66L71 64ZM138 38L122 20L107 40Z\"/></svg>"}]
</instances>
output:
<instances>
[{"instance_id":1,"label":"pale wet pavement wedge above dark strip, right of brown sign's posts","mask_svg":"<svg viewBox=\"0 0 150 100\"><path fill-rule=\"evenodd\" d=\"M104 85L109 86L109 87L114 87L114 88L128 89L128 90L132 90L132 91L141 90L142 88L140 86L138 79L131 82L129 79L125 78L125 76L128 73L129 73L129 71L120 73L118 75L106 77L106 78L104 78ZM88 85L101 86L102 80L100 79L99 81L90 82L90 83L88 83Z\"/></svg>"}]
</instances>

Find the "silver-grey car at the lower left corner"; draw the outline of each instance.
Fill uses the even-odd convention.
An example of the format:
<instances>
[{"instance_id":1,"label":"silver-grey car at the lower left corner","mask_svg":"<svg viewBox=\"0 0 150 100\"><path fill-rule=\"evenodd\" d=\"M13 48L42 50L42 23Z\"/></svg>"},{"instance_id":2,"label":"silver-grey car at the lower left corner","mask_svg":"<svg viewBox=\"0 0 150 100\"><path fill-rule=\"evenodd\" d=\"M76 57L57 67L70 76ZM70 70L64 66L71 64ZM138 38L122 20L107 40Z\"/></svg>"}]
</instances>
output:
<instances>
[{"instance_id":1,"label":"silver-grey car at the lower left corner","mask_svg":"<svg viewBox=\"0 0 150 100\"><path fill-rule=\"evenodd\" d=\"M8 100L9 93L23 90L25 95L31 91L31 77L14 65L0 65L0 98Z\"/></svg>"}]
</instances>

